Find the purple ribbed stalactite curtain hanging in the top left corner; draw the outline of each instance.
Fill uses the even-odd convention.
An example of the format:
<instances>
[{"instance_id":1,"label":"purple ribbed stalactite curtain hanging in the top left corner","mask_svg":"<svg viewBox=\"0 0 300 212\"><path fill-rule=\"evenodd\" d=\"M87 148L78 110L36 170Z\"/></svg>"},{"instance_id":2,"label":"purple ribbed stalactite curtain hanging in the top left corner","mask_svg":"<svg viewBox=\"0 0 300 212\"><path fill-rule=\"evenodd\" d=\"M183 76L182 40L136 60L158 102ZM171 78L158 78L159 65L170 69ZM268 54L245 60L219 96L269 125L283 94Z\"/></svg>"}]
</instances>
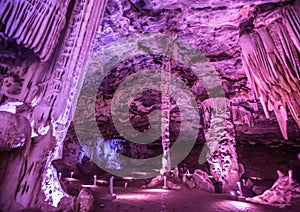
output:
<instances>
[{"instance_id":1,"label":"purple ribbed stalactite curtain hanging in the top left corner","mask_svg":"<svg viewBox=\"0 0 300 212\"><path fill-rule=\"evenodd\" d=\"M42 61L51 56L66 23L67 1L0 1L4 33L32 49Z\"/></svg>"}]
</instances>

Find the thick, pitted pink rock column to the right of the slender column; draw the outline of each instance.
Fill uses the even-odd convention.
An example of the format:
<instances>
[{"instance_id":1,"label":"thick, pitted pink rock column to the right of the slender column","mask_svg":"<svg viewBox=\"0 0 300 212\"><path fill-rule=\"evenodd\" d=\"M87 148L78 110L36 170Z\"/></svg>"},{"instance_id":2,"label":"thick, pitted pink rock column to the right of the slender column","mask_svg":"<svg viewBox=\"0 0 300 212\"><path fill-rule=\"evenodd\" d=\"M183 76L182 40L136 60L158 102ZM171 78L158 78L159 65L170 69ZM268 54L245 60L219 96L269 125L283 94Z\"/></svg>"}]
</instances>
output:
<instances>
[{"instance_id":1,"label":"thick, pitted pink rock column to the right of the slender column","mask_svg":"<svg viewBox=\"0 0 300 212\"><path fill-rule=\"evenodd\" d=\"M235 131L229 110L229 100L210 98L202 102L207 161L214 179L224 189L236 188L241 173L235 148Z\"/></svg>"}]
</instances>

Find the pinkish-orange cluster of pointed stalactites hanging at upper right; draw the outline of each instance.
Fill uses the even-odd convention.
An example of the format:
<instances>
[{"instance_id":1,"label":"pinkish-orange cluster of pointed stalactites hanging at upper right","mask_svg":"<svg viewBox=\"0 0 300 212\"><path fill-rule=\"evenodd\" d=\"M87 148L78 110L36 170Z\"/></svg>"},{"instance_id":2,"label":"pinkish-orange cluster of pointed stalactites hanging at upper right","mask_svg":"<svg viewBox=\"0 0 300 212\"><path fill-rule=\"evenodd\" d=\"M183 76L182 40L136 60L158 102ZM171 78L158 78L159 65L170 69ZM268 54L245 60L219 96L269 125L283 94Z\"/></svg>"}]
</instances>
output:
<instances>
[{"instance_id":1,"label":"pinkish-orange cluster of pointed stalactites hanging at upper right","mask_svg":"<svg viewBox=\"0 0 300 212\"><path fill-rule=\"evenodd\" d=\"M292 5L249 11L240 25L243 66L266 117L274 110L287 139L287 108L300 127L299 14Z\"/></svg>"}]
</instances>

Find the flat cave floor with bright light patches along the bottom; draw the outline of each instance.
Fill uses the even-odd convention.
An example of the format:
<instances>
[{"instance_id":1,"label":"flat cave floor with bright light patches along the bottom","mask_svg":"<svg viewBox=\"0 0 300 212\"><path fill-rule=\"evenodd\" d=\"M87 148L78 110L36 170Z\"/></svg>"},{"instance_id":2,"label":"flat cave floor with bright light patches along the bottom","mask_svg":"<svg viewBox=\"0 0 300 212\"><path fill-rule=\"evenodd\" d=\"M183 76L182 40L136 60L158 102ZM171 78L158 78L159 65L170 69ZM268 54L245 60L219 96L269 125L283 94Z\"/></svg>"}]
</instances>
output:
<instances>
[{"instance_id":1,"label":"flat cave floor with bright light patches along the bottom","mask_svg":"<svg viewBox=\"0 0 300 212\"><path fill-rule=\"evenodd\" d=\"M116 187L113 201L106 200L108 188L94 190L94 211L300 211L300 205L278 208L233 200L228 194L215 194L183 187L180 190L161 188L137 189Z\"/></svg>"}]
</instances>

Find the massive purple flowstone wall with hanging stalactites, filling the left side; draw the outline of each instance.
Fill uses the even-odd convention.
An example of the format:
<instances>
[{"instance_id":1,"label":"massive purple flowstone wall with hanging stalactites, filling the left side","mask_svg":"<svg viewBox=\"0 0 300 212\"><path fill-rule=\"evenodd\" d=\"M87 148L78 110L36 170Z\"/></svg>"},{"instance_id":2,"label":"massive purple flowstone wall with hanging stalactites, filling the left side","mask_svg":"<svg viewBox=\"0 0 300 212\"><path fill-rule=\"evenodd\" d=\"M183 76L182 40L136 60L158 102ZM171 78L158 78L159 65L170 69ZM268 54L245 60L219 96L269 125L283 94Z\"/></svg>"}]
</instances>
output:
<instances>
[{"instance_id":1,"label":"massive purple flowstone wall with hanging stalactites, filling the left side","mask_svg":"<svg viewBox=\"0 0 300 212\"><path fill-rule=\"evenodd\" d=\"M0 1L0 110L25 117L32 128L31 139L23 136L31 145L22 144L22 133L13 138L26 151L1 153L0 209L33 207L45 197L56 205L65 195L51 162L61 157L105 6L106 0Z\"/></svg>"}]
</instances>

